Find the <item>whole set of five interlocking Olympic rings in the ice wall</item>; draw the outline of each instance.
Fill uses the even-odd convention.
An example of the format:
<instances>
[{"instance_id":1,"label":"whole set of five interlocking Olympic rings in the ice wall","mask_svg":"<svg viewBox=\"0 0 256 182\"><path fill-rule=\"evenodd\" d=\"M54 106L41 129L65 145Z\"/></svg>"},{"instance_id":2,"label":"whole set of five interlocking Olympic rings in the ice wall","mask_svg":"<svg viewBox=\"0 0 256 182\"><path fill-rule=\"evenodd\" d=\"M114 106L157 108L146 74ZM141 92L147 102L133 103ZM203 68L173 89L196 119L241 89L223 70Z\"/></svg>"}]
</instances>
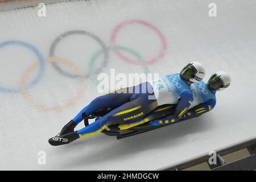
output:
<instances>
[{"instance_id":1,"label":"whole set of five interlocking Olympic rings in the ice wall","mask_svg":"<svg viewBox=\"0 0 256 182\"><path fill-rule=\"evenodd\" d=\"M146 27L150 28L151 30L153 30L159 36L162 47L160 49L158 56L153 57L150 60L143 60L142 56L138 52L134 51L133 49L130 49L130 48L127 48L124 46L119 46L119 45L117 46L118 32L122 28L124 28L125 26L129 26L130 24L140 24L142 26L146 26ZM89 69L89 73L87 73L87 74L82 74L80 69L78 67L76 67L76 65L74 65L71 61L68 61L68 60L62 59L61 57L55 56L55 49L56 49L57 44L59 44L61 42L61 40L63 40L64 38L66 38L68 36L72 36L72 35L88 36L89 38L95 40L101 46L101 49L99 51L97 51L96 53L94 53L94 55L91 57L91 59L89 61L90 69ZM67 109L68 107L75 105L76 102L79 100L79 98L82 97L82 93L84 92L85 86L82 82L83 79L90 78L90 79L93 79L93 81L95 82L96 79L93 78L93 73L95 75L97 75L98 73L102 72L103 68L106 67L106 65L109 62L109 51L113 51L115 53L115 55L117 55L121 60L126 61L127 63L143 66L144 72L147 73L148 72L147 65L154 64L157 61L159 61L160 59L162 59L164 57L166 49L167 49L166 39L164 38L164 35L162 34L162 32L160 32L160 30L158 28L156 28L154 25L152 25L151 23L148 23L143 20L137 20L137 19L126 20L124 22L119 23L117 25L117 27L115 27L113 29L113 32L110 36L110 46L106 46L106 44L97 35L94 35L91 32L84 31L84 30L72 30L72 31L64 32L64 34L61 34L60 36L58 36L55 40L53 40L53 43L51 44L51 46L49 48L49 57L47 57L47 58L44 58L43 55L39 52L39 50L35 46L32 46L31 44L22 42L20 40L10 40L10 41L0 43L0 49L4 48L4 47L8 47L8 46L21 46L21 47L30 49L38 58L38 63L32 64L30 67L28 67L26 69L26 71L22 75L22 79L21 79L19 88L6 88L6 87L0 85L0 92L1 93L21 93L22 96L25 98L25 100L30 105L36 107L37 109L43 110L43 111L61 111L61 110ZM122 55L121 51L125 51L125 52L130 53L131 55L134 55L137 60L129 59L128 57ZM101 54L104 56L104 60L101 64L100 68L94 69L93 68L94 63ZM77 92L77 96L73 97L71 101L69 101L67 104L64 104L63 106L47 107L45 105L36 104L36 102L34 100L32 100L32 98L30 98L30 94L28 94L27 89L31 88L32 86L35 86L42 79L42 77L44 75L46 63L51 64L52 67L55 68L55 70L58 73L60 73L61 75L79 80L79 91ZM75 74L73 72L69 73L69 72L65 71L64 69L61 69L60 64L67 65L68 67L72 68L73 71L75 71ZM34 69L36 69L38 67L39 67L38 75L36 75L34 80L27 83L28 76L31 75L31 72L34 71ZM177 85L179 85L179 84L177 83Z\"/></svg>"}]
</instances>

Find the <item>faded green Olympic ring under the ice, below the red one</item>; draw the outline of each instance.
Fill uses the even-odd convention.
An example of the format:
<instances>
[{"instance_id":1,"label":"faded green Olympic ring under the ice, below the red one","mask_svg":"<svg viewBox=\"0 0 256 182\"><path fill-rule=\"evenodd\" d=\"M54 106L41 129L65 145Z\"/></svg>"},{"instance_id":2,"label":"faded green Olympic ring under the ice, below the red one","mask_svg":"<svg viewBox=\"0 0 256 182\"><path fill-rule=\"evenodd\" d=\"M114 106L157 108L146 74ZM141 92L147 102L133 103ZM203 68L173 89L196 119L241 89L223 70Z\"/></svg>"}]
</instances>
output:
<instances>
[{"instance_id":1,"label":"faded green Olympic ring under the ice, below the red one","mask_svg":"<svg viewBox=\"0 0 256 182\"><path fill-rule=\"evenodd\" d=\"M127 47L123 47L123 46L114 46L114 47L108 47L109 51L114 51L114 50L120 50L120 51L126 51L129 52L131 55L134 55L139 61L142 61L142 56L138 53L135 52L133 49L127 48ZM96 62L96 60L98 59L98 56L100 56L103 53L102 49L97 51L96 53L94 53L94 55L92 56L92 59L90 59L90 63L89 63L89 75L93 75L93 70L94 70L94 63ZM148 73L148 67L146 64L143 65L143 69L144 69L144 73ZM92 79L93 82L97 82L96 78L90 77Z\"/></svg>"}]
</instances>

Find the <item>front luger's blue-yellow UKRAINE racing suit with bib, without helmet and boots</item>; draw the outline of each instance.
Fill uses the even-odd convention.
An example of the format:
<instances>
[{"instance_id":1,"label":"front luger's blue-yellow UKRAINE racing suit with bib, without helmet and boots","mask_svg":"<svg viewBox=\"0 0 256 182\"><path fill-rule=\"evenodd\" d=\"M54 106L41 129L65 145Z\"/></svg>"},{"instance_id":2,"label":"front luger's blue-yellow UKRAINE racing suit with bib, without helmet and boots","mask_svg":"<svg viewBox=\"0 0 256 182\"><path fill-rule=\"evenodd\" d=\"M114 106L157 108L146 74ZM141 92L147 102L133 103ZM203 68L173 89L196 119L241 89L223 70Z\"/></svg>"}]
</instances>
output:
<instances>
[{"instance_id":1,"label":"front luger's blue-yellow UKRAINE racing suit with bib, without helmet and boots","mask_svg":"<svg viewBox=\"0 0 256 182\"><path fill-rule=\"evenodd\" d=\"M170 120L174 122L183 117L192 102L191 85L183 81L179 74L166 75L154 81L143 82L130 88L113 90L104 96L97 97L82 109L72 121L78 124L85 116L92 115L99 109L110 110L97 121L78 130L77 134L81 138L100 133L106 127L116 123L135 122L133 126L137 126L149 122L149 120L141 122L139 118L144 118L161 105L168 105L167 109L176 106L175 114L170 117Z\"/></svg>"}]
</instances>

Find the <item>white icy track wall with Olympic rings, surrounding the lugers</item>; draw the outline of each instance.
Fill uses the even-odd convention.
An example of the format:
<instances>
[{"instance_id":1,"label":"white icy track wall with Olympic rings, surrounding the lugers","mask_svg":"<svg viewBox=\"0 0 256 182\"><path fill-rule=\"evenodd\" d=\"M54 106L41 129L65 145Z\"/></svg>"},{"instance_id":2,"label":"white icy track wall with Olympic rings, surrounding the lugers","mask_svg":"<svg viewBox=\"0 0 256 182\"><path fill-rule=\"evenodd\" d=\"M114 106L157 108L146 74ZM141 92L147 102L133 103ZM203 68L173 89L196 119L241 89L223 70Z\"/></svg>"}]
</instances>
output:
<instances>
[{"instance_id":1,"label":"white icy track wall with Olympic rings, surrounding the lugers","mask_svg":"<svg viewBox=\"0 0 256 182\"><path fill-rule=\"evenodd\" d=\"M0 169L157 169L255 136L256 2L72 1L0 12ZM116 140L52 147L97 93L98 73L177 73L191 60L233 78L208 114ZM82 75L82 76L81 76ZM82 127L82 126L80 126ZM46 165L38 164L39 151Z\"/></svg>"}]
</instances>

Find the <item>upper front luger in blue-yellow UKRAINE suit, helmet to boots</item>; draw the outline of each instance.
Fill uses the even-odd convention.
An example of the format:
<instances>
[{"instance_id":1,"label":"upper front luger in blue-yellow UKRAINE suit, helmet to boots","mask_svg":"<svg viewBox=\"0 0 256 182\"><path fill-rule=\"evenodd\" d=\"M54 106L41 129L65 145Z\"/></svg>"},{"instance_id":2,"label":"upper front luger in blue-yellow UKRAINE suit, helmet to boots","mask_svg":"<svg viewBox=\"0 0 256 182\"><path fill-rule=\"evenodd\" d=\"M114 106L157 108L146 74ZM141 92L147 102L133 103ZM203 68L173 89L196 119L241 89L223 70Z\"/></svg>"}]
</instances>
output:
<instances>
[{"instance_id":1,"label":"upper front luger in blue-yellow UKRAINE suit, helmet to boots","mask_svg":"<svg viewBox=\"0 0 256 182\"><path fill-rule=\"evenodd\" d=\"M131 88L113 90L104 96L97 97L65 125L59 135L50 138L49 143L53 146L67 144L75 139L100 133L110 125L134 122L156 107L167 104L176 106L174 114L168 117L171 122L175 122L183 117L193 102L191 84L201 81L204 75L203 65L193 62L186 65L180 74L163 76L154 81L143 82ZM90 125L87 123L83 129L74 131L77 124L84 118L99 115L101 110L107 114ZM148 121L144 120L144 122Z\"/></svg>"}]
</instances>

